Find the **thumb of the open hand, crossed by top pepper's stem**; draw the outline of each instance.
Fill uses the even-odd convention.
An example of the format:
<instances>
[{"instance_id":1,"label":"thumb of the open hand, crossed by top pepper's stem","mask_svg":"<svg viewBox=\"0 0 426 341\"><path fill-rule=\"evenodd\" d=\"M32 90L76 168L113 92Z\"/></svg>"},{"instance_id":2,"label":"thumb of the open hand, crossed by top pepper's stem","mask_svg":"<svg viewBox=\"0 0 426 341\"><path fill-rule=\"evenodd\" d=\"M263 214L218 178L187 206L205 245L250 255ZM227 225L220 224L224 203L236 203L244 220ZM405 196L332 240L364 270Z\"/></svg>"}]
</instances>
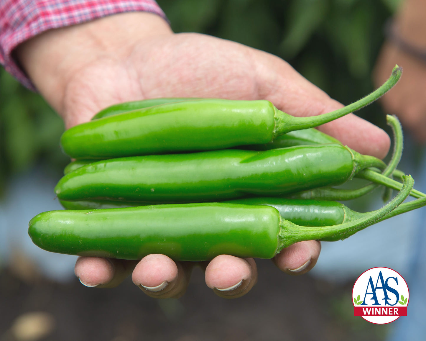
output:
<instances>
[{"instance_id":1,"label":"thumb of the open hand, crossed by top pepper's stem","mask_svg":"<svg viewBox=\"0 0 426 341\"><path fill-rule=\"evenodd\" d=\"M257 57L267 65L258 70L261 98L285 113L300 117L317 116L343 107L285 61L259 53ZM354 114L323 124L320 130L359 153L383 158L389 151L390 139L386 132Z\"/></svg>"}]
</instances>

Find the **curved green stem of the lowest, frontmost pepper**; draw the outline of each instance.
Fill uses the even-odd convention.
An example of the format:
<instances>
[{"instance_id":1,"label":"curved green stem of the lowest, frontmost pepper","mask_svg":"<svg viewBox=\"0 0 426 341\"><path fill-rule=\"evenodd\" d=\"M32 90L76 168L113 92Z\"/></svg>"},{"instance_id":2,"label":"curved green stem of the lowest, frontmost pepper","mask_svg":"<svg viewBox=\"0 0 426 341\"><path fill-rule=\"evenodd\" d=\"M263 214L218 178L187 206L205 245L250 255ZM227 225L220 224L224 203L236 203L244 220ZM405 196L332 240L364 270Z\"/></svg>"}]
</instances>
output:
<instances>
[{"instance_id":1,"label":"curved green stem of the lowest, frontmost pepper","mask_svg":"<svg viewBox=\"0 0 426 341\"><path fill-rule=\"evenodd\" d=\"M394 199L382 208L369 212L365 217L354 220L349 223L339 225L307 227L299 226L288 220L282 220L281 231L279 232L279 247L277 253L282 249L304 240L318 240L323 238L333 238L336 235L344 235L346 233L355 233L357 231L373 225L378 220L389 214L397 208L409 196L414 185L414 180L410 175L403 177L403 187Z\"/></svg>"}]
</instances>

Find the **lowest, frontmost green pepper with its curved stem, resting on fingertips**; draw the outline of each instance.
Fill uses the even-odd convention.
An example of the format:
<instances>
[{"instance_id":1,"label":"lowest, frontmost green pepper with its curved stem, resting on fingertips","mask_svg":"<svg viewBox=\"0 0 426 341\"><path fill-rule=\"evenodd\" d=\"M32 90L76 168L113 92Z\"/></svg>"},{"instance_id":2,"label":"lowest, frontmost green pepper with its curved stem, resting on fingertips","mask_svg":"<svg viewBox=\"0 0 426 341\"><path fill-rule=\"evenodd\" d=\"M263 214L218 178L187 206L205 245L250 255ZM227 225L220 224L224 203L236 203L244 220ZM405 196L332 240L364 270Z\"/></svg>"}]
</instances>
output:
<instances>
[{"instance_id":1,"label":"lowest, frontmost green pepper with its curved stem, resting on fingertips","mask_svg":"<svg viewBox=\"0 0 426 341\"><path fill-rule=\"evenodd\" d=\"M210 260L219 254L272 258L303 240L345 236L389 214L409 195L403 190L383 208L353 222L323 227L283 220L276 208L225 203L154 205L38 214L29 223L32 241L47 251L122 259L165 254L173 260Z\"/></svg>"}]
</instances>

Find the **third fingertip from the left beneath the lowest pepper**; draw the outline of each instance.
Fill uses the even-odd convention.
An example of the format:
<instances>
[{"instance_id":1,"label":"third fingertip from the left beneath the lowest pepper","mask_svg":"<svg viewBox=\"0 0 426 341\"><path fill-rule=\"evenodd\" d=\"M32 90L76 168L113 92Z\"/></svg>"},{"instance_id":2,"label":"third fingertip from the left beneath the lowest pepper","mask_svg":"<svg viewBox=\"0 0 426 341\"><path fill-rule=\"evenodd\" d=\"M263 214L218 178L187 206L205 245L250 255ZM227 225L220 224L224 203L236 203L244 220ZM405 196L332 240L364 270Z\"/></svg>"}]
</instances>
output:
<instances>
[{"instance_id":1,"label":"third fingertip from the left beneath the lowest pepper","mask_svg":"<svg viewBox=\"0 0 426 341\"><path fill-rule=\"evenodd\" d=\"M239 258L222 254L206 268L206 284L216 295L238 298L247 294L257 282L256 263L253 258Z\"/></svg>"}]
</instances>

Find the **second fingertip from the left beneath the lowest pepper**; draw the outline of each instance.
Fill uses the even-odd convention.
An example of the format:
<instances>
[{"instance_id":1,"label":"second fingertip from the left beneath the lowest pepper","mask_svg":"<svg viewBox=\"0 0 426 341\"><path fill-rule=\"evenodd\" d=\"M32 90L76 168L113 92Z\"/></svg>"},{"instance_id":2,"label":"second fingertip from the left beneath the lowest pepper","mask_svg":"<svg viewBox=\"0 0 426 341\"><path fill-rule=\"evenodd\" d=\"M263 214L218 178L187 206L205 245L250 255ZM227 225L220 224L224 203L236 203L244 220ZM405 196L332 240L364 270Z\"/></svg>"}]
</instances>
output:
<instances>
[{"instance_id":1,"label":"second fingertip from the left beneath the lowest pepper","mask_svg":"<svg viewBox=\"0 0 426 341\"><path fill-rule=\"evenodd\" d=\"M154 298L179 298L188 286L195 263L175 263L164 254L150 254L135 267L132 281Z\"/></svg>"}]
</instances>

